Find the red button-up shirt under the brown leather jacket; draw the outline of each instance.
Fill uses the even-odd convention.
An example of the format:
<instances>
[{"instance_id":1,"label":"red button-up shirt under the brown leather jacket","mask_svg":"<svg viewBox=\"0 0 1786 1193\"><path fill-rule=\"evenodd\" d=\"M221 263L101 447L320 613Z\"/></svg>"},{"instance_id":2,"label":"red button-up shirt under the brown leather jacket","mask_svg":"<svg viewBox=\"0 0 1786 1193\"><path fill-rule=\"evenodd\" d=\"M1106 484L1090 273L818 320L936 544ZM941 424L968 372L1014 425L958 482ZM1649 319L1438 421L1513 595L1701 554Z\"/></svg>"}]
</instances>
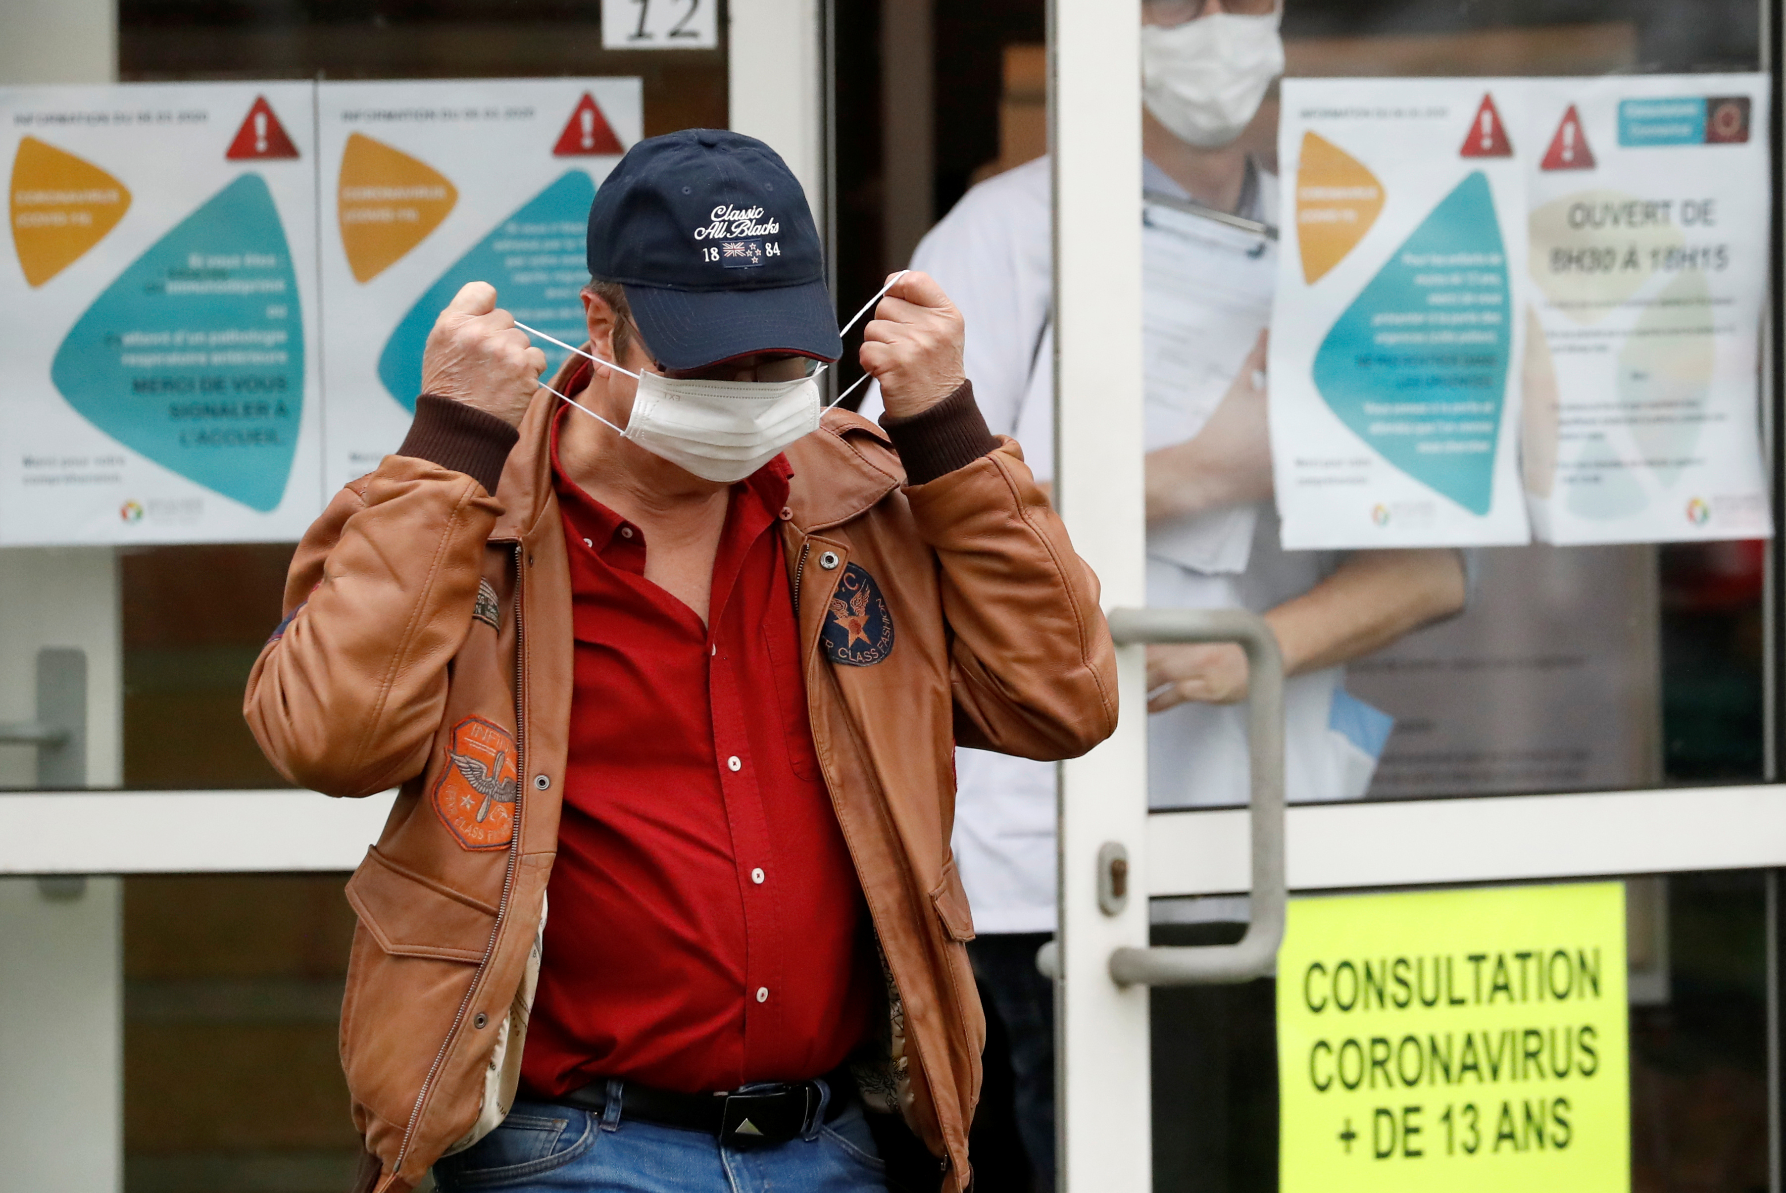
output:
<instances>
[{"instance_id":1,"label":"red button-up shirt under the brown leather jacket","mask_svg":"<svg viewBox=\"0 0 1786 1193\"><path fill-rule=\"evenodd\" d=\"M732 486L709 623L645 534L552 463L575 695L523 1086L798 1080L861 1041L875 972L820 777L777 521L784 457Z\"/></svg>"}]
</instances>

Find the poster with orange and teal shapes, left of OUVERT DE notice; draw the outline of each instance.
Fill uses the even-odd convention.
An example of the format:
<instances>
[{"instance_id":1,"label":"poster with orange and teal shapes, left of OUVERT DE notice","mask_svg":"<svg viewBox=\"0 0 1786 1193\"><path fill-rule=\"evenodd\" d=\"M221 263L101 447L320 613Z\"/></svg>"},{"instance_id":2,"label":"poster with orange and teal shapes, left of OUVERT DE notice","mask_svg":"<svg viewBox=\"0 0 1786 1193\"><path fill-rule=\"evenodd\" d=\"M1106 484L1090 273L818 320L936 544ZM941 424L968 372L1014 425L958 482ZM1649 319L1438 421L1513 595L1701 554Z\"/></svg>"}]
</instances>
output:
<instances>
[{"instance_id":1,"label":"poster with orange and teal shapes, left of OUVERT DE notice","mask_svg":"<svg viewBox=\"0 0 1786 1193\"><path fill-rule=\"evenodd\" d=\"M1520 84L1286 79L1282 95L1284 546L1525 543Z\"/></svg>"}]
</instances>

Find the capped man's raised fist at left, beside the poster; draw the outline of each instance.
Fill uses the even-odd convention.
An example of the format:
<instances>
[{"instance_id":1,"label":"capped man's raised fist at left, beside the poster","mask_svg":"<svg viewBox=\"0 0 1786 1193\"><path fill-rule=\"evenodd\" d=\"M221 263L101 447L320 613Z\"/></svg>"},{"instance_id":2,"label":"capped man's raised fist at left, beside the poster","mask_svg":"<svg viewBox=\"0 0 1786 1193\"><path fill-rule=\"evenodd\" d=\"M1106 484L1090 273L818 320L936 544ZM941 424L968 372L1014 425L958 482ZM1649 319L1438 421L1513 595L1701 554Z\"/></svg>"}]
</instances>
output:
<instances>
[{"instance_id":1,"label":"capped man's raised fist at left, beside the poster","mask_svg":"<svg viewBox=\"0 0 1786 1193\"><path fill-rule=\"evenodd\" d=\"M429 332L421 393L464 402L520 427L545 370L547 354L514 325L514 316L497 307L497 288L466 282Z\"/></svg>"}]
</instances>

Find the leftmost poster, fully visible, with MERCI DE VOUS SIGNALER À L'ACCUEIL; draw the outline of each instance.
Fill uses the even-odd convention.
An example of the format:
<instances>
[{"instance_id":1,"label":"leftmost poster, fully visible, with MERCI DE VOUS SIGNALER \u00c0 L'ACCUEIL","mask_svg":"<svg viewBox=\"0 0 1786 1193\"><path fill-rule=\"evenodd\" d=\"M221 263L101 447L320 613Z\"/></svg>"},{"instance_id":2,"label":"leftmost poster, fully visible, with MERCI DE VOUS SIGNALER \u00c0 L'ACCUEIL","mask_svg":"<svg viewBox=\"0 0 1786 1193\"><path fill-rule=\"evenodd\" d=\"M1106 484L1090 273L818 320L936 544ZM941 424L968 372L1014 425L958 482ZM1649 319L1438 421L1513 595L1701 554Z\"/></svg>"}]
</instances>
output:
<instances>
[{"instance_id":1,"label":"leftmost poster, fully visible, with MERCI DE VOUS SIGNALER \u00c0 L'ACCUEIL","mask_svg":"<svg viewBox=\"0 0 1786 1193\"><path fill-rule=\"evenodd\" d=\"M318 514L313 96L0 89L0 543L277 541Z\"/></svg>"}]
</instances>

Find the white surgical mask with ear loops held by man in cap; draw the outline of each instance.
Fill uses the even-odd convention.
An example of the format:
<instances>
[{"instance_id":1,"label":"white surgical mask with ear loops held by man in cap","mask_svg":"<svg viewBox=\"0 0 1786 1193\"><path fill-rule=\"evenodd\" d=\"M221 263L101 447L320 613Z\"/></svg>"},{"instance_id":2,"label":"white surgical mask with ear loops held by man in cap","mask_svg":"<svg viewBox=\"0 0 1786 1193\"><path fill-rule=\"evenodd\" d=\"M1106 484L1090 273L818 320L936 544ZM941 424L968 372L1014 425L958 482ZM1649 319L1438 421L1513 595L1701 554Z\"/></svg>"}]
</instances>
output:
<instances>
[{"instance_id":1,"label":"white surgical mask with ear loops held by man in cap","mask_svg":"<svg viewBox=\"0 0 1786 1193\"><path fill-rule=\"evenodd\" d=\"M843 325L839 334L855 327L855 321L868 314L902 277L906 277L906 270L895 273L880 288L880 293ZM632 414L625 427L614 427L588 405L573 402L545 382L539 384L647 452L716 484L734 484L763 468L784 446L818 430L818 418L829 409L820 404L818 395L818 377L829 368L827 364L820 364L807 377L793 380L702 380L698 377L634 373L613 361L573 348L563 339L552 339L552 336L525 323L516 321L516 327L636 379L639 388L632 396ZM863 380L868 380L866 373L857 379L855 386ZM850 396L855 386L839 393L830 405Z\"/></svg>"}]
</instances>

